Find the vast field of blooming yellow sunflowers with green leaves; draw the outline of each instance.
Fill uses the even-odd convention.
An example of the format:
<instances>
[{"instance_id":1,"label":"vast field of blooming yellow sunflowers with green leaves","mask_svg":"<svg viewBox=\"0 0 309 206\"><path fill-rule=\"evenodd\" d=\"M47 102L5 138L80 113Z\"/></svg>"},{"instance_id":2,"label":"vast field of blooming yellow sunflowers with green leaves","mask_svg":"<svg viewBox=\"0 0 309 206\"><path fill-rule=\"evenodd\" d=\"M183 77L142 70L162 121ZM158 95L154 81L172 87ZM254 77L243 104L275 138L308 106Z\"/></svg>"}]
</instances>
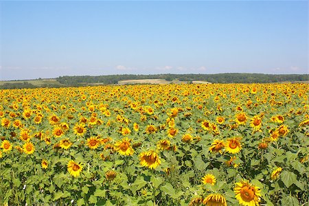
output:
<instances>
[{"instance_id":1,"label":"vast field of blooming yellow sunflowers with green leaves","mask_svg":"<svg viewBox=\"0 0 309 206\"><path fill-rule=\"evenodd\" d=\"M0 205L306 205L308 91L0 90Z\"/></svg>"}]
</instances>

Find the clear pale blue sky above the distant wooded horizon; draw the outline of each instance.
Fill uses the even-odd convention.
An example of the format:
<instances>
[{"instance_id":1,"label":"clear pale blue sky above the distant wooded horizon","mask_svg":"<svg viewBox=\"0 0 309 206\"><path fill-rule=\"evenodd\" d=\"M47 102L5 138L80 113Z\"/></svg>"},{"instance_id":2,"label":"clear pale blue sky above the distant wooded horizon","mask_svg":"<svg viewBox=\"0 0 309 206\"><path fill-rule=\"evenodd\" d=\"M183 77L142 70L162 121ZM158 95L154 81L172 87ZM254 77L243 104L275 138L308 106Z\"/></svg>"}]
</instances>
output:
<instances>
[{"instance_id":1,"label":"clear pale blue sky above the distant wooded horizon","mask_svg":"<svg viewBox=\"0 0 309 206\"><path fill-rule=\"evenodd\" d=\"M308 73L308 1L0 1L0 80Z\"/></svg>"}]
</instances>

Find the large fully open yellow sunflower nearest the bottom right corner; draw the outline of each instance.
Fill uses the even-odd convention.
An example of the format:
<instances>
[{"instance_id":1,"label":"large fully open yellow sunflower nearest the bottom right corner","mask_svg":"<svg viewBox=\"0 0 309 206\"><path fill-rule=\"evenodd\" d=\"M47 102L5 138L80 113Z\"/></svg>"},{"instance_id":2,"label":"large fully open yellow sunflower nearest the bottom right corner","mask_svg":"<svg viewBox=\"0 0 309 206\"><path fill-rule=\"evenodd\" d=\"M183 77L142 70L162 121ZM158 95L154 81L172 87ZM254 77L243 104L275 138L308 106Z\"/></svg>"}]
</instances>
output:
<instances>
[{"instance_id":1,"label":"large fully open yellow sunflower nearest the bottom right corner","mask_svg":"<svg viewBox=\"0 0 309 206\"><path fill-rule=\"evenodd\" d=\"M236 199L241 205L245 206L255 206L259 205L261 194L260 188L249 183L249 181L240 181L236 183L234 187L234 192L236 194Z\"/></svg>"}]
</instances>

